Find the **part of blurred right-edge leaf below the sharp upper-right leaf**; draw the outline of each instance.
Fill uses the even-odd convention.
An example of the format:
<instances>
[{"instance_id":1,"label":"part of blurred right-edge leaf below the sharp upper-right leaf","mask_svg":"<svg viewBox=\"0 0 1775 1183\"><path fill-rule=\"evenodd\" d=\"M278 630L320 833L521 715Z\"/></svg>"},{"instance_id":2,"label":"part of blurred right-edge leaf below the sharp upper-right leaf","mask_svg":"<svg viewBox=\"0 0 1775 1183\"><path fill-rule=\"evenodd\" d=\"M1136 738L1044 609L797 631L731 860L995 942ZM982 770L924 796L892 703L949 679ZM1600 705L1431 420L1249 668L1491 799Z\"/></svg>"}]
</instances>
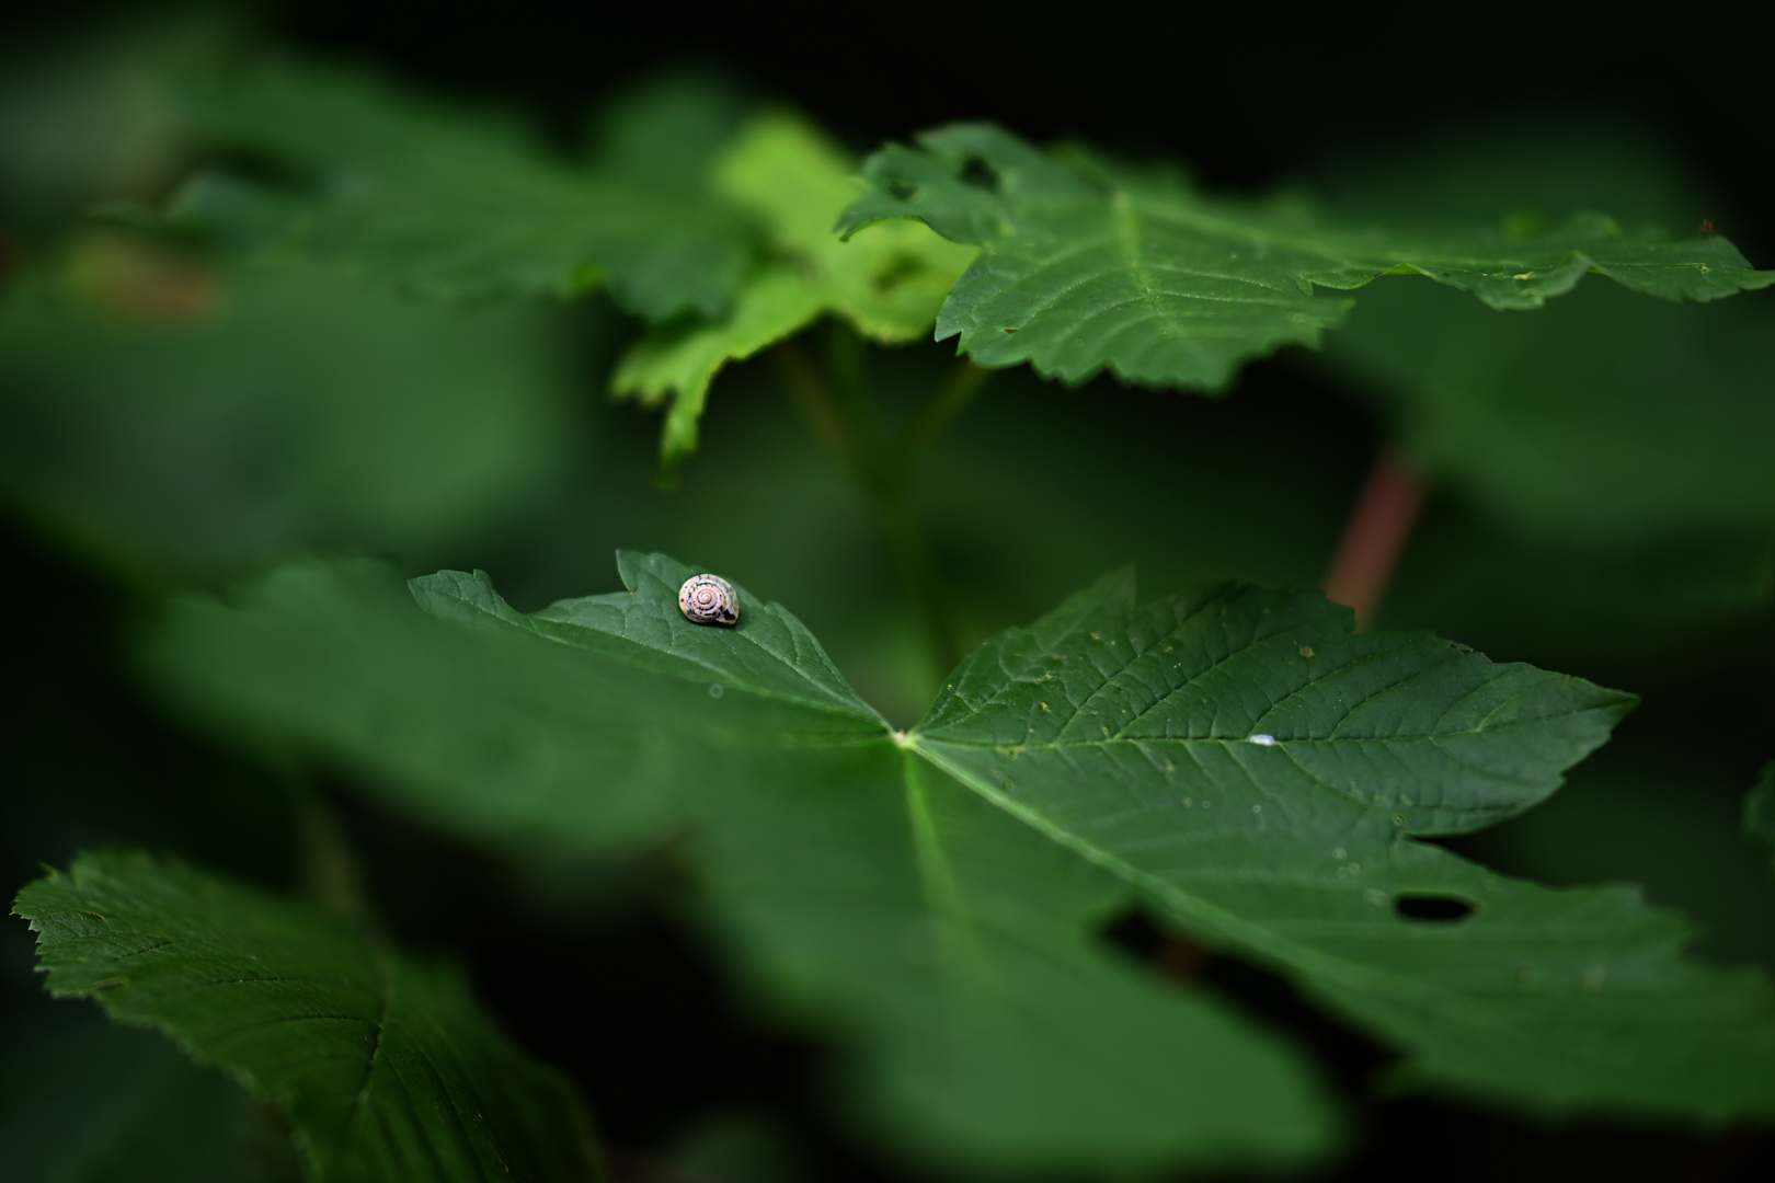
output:
<instances>
[{"instance_id":1,"label":"part of blurred right-edge leaf below the sharp upper-right leaf","mask_svg":"<svg viewBox=\"0 0 1775 1183\"><path fill-rule=\"evenodd\" d=\"M1328 360L1392 411L1413 463L1518 529L1752 550L1775 532L1766 298L1598 289L1512 317L1381 284Z\"/></svg>"}]
</instances>

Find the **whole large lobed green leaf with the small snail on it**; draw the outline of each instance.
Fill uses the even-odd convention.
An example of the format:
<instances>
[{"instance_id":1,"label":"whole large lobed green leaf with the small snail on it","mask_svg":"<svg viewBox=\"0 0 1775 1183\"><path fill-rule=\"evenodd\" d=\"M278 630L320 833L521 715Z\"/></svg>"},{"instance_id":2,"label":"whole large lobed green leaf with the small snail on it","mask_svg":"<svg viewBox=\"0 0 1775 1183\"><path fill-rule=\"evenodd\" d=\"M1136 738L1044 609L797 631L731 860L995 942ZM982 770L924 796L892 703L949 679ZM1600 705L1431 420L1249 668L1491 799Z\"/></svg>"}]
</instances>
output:
<instances>
[{"instance_id":1,"label":"whole large lobed green leaf with the small snail on it","mask_svg":"<svg viewBox=\"0 0 1775 1183\"><path fill-rule=\"evenodd\" d=\"M740 589L740 626L705 630L676 614L690 568L621 568L628 592L527 617L485 576L415 580L435 615L472 624L449 640L309 571L309 607L275 582L247 610L193 605L153 654L217 718L367 772L422 764L398 798L483 841L534 832L543 786L556 837L589 844L637 816L614 802L671 796L735 958L836 1023L875 1112L930 1153L1150 1165L1324 1144L1287 1057L1092 945L1134 901L1287 974L1429 1084L1542 1112L1720 1119L1775 1101L1761 979L1679 958L1683 926L1629 889L1546 890L1413 837L1544 798L1628 695L1429 635L1358 635L1317 594L1136 610L1120 575L982 646L895 733L776 605ZM378 631L408 656L369 653ZM508 646L515 681L541 663L557 681L520 697L492 665L449 676L437 654L467 639L488 663ZM371 752L375 727L415 750ZM513 763L570 745L586 763L490 793L446 757L501 736ZM598 768L604 750L627 763Z\"/></svg>"}]
</instances>

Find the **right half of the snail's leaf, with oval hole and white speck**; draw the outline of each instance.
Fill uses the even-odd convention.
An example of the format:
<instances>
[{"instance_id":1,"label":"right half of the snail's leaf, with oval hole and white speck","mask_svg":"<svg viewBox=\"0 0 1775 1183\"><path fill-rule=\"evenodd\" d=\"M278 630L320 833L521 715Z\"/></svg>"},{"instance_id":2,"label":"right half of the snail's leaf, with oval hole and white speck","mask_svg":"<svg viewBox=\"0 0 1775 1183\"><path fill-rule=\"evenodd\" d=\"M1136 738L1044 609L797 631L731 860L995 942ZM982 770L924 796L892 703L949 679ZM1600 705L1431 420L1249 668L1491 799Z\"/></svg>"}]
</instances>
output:
<instances>
[{"instance_id":1,"label":"right half of the snail's leaf, with oval hole and white speck","mask_svg":"<svg viewBox=\"0 0 1775 1183\"><path fill-rule=\"evenodd\" d=\"M1683 926L1631 889L1546 890L1408 837L1537 800L1628 695L1351 635L1319 596L1132 605L1111 578L983 646L918 750L1427 1082L1557 1112L1775 1103L1761 977L1679 960ZM1470 913L1415 921L1413 897Z\"/></svg>"}]
</instances>

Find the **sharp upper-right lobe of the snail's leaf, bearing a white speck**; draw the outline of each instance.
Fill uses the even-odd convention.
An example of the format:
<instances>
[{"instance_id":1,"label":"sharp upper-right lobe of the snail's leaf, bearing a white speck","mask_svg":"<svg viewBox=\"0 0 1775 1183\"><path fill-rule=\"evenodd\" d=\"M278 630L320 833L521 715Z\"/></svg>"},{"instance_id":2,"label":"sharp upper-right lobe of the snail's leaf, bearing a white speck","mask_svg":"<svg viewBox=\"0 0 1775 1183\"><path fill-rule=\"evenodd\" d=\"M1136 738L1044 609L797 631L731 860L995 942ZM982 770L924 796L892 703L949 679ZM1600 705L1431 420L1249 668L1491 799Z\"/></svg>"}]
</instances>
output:
<instances>
[{"instance_id":1,"label":"sharp upper-right lobe of the snail's leaf, bearing a white speck","mask_svg":"<svg viewBox=\"0 0 1775 1183\"><path fill-rule=\"evenodd\" d=\"M1463 834L1546 798L1635 702L1431 633L1351 623L1317 592L1227 587L1136 612L1124 571L974 649L914 734L962 745L939 747L944 761L974 748L992 766L1024 752L1134 759L1196 787L1214 775L1200 761L1230 754L1241 768L1285 764L1299 779L1278 789L1335 793L1388 834Z\"/></svg>"}]
</instances>

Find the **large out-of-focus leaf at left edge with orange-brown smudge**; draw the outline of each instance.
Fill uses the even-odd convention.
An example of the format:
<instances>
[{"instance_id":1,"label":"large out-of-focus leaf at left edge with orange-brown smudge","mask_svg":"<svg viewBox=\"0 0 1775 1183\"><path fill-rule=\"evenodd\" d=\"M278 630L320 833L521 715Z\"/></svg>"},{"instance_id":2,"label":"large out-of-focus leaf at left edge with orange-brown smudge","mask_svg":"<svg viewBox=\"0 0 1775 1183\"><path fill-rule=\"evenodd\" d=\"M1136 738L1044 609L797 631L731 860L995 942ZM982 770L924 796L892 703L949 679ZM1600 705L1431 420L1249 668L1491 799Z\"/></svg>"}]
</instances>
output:
<instances>
[{"instance_id":1,"label":"large out-of-focus leaf at left edge with orange-brown smudge","mask_svg":"<svg viewBox=\"0 0 1775 1183\"><path fill-rule=\"evenodd\" d=\"M538 309L414 303L330 268L213 271L83 239L0 302L0 472L151 569L422 552L561 468L552 330Z\"/></svg>"}]
</instances>

